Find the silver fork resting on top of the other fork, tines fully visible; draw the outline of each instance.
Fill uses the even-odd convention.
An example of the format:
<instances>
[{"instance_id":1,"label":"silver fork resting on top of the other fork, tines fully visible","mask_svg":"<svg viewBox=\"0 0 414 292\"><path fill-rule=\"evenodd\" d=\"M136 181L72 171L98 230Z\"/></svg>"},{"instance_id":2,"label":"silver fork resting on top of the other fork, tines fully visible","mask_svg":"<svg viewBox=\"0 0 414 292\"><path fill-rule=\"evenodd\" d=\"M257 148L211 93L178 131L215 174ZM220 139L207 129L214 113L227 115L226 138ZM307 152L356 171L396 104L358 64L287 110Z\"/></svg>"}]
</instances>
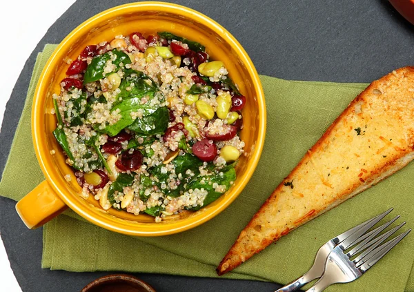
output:
<instances>
[{"instance_id":1,"label":"silver fork resting on top of the other fork, tines fully visible","mask_svg":"<svg viewBox=\"0 0 414 292\"><path fill-rule=\"evenodd\" d=\"M386 253L388 253L388 251L391 251L398 242L410 233L411 228L394 237L392 240L382 244L406 223L402 222L402 224L395 226L386 233L375 237L392 222L397 220L398 217L400 216L397 216L393 220L375 228L373 231L366 233L366 235L359 237L357 240L348 240L348 238L350 238L348 237L342 244L335 246L326 259L324 274L316 284L306 292L321 292L331 284L348 283L361 277L371 268L371 266L377 263L384 257L384 255L386 255ZM355 246L355 244L357 244L357 246ZM355 247L351 249L351 251L345 253L345 250L350 249L352 246ZM357 255L357 257L351 260L351 257L354 255Z\"/></svg>"}]
</instances>

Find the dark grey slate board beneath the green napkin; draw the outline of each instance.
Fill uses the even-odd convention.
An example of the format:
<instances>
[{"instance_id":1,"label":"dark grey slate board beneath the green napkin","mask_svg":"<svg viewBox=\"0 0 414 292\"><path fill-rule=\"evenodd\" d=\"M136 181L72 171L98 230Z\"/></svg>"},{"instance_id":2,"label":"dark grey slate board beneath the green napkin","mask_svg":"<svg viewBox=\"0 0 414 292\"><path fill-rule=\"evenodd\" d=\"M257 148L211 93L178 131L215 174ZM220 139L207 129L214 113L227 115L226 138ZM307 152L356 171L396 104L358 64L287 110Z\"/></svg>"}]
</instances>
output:
<instances>
[{"instance_id":1,"label":"dark grey slate board beneath the green napkin","mask_svg":"<svg viewBox=\"0 0 414 292\"><path fill-rule=\"evenodd\" d=\"M82 21L128 1L79 0L34 49L6 106L0 133L3 171L23 108L35 57L46 43L59 43ZM242 43L260 74L283 79L370 82L413 63L414 26L386 0L372 1L172 1L199 10ZM271 115L271 113L269 113ZM26 177L30 179L30 177ZM42 231L28 231L14 202L0 197L0 230L14 274L24 292L79 291L108 273L41 269ZM157 291L275 291L273 283L137 274Z\"/></svg>"}]
</instances>

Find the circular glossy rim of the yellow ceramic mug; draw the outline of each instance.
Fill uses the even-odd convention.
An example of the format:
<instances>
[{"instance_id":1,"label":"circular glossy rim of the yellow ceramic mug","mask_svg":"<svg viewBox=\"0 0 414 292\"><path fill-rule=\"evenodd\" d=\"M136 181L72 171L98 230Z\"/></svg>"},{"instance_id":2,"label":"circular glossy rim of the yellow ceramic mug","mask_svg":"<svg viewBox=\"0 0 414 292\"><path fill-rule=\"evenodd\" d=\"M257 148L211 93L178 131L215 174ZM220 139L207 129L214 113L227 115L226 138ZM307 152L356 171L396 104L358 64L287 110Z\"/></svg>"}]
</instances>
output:
<instances>
[{"instance_id":1,"label":"circular glossy rim of the yellow ceramic mug","mask_svg":"<svg viewBox=\"0 0 414 292\"><path fill-rule=\"evenodd\" d=\"M110 222L108 219L105 220L102 216L93 215L90 213L89 208L86 206L82 206L81 204L77 204L74 199L71 199L71 195L67 195L68 193L65 190L62 190L59 187L59 184L55 182L54 177L56 177L55 171L50 171L48 169L48 159L43 157L48 153L48 146L46 143L46 139L42 137L42 130L41 124L38 121L38 114L44 108L44 101L46 99L46 91L48 88L48 80L50 80L51 75L53 74L53 69L55 68L54 64L57 62L59 57L66 55L66 52L69 51L72 41L75 41L76 36L79 32L89 31L92 28L95 28L95 24L103 21L104 19L113 18L117 16L121 16L122 14L126 14L127 12L135 11L135 9L139 10L156 10L161 12L172 12L174 14L179 14L181 16L187 17L189 19L193 19L199 23L203 23L205 26L208 26L211 30L215 33L221 35L221 37L230 44L231 48L237 52L238 57L242 60L244 66L246 66L246 71L250 75L250 78L253 81L253 86L255 88L255 94L257 97L257 104L258 104L258 111L259 111L259 124L258 127L258 136L255 142L255 149L253 150L252 155L248 160L248 166L246 168L246 172L242 177L242 180L233 186L233 191L231 195L228 195L226 199L224 199L221 204L215 206L215 208L211 208L208 211L202 213L199 217L193 217L190 222L186 224L176 224L174 227L159 224L159 228L156 231L154 230L137 230L134 228L126 228L123 226L124 224L114 224ZM42 96L43 95L43 96ZM43 131L44 132L44 131ZM36 153L37 160L39 162L39 166L41 167L41 171L46 177L46 180L52 186L52 189L55 193L65 202L65 204L75 211L77 214L81 215L81 217L85 218L89 222L97 226L101 226L106 228L110 231L115 231L117 233L122 233L126 235L135 235L135 236L159 236L159 235L170 235L174 233L179 233L182 231L186 231L190 228L194 228L195 226L199 226L204 222L212 219L221 211L224 211L235 199L238 195L242 192L250 177L253 175L255 168L259 162L260 156L262 154L263 146L264 146L264 138L266 134L266 105L264 100L264 91L262 88L262 83L259 79L259 75L257 74L257 70L253 65L250 57L248 57L246 50L240 45L240 43L233 37L233 35L228 32L223 26L219 23L210 19L206 15L193 10L191 8L187 8L185 6L180 6L174 3L165 3L165 2L157 2L157 1L148 1L148 2L136 2L136 3L127 3L121 6L115 6L108 10L104 10L99 14L96 14L93 17L90 17L86 21L83 21L77 28L72 30L64 39L59 43L59 46L52 52L52 55L48 59L46 66L43 68L41 75L39 77L39 81L37 83L36 90L34 92L34 98L32 103L32 141L34 146L34 152ZM163 228L164 226L164 228Z\"/></svg>"}]
</instances>

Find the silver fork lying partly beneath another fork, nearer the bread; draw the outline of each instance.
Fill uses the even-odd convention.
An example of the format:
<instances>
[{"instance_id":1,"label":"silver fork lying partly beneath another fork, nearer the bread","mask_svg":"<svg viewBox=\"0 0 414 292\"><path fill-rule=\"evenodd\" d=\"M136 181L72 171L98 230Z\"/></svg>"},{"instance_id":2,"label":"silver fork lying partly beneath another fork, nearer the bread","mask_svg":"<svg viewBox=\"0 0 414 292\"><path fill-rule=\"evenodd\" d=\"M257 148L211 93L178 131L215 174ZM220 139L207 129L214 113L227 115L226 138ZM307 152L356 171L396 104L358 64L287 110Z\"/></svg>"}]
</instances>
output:
<instances>
[{"instance_id":1,"label":"silver fork lying partly beneath another fork, nearer the bread","mask_svg":"<svg viewBox=\"0 0 414 292\"><path fill-rule=\"evenodd\" d=\"M321 246L319 251L317 251L315 262L313 263L313 266L311 267L311 269L309 269L308 272L302 275L302 277L297 278L297 280L290 282L289 284L287 284L286 286L283 286L281 289L278 289L275 292L296 291L297 289L301 288L308 282L311 282L317 278L321 278L322 274L324 273L326 258L328 257L329 253L331 253L331 251L335 249L335 246L337 246L338 244L342 244L342 242L344 242L344 240L347 240L348 238L349 240L348 242L345 242L345 244L349 244L349 241L351 240L352 242L355 242L355 240L361 237L364 233L366 233L366 231L368 231L375 224L380 222L380 220L382 220L382 218L388 215L388 213L390 213L391 211L393 211L393 208L388 209L384 213L377 215L371 218L370 220L367 220L366 222L359 224L358 226L355 226L354 228L351 228L348 231L345 231L344 233L326 242L326 244ZM394 218L393 220L395 221L396 219L397 218ZM388 222L388 223L391 224L392 222ZM381 231L378 231L378 233L380 232ZM362 240L364 240L365 238L366 237L362 238ZM342 247L344 247L344 244L342 244Z\"/></svg>"}]
</instances>

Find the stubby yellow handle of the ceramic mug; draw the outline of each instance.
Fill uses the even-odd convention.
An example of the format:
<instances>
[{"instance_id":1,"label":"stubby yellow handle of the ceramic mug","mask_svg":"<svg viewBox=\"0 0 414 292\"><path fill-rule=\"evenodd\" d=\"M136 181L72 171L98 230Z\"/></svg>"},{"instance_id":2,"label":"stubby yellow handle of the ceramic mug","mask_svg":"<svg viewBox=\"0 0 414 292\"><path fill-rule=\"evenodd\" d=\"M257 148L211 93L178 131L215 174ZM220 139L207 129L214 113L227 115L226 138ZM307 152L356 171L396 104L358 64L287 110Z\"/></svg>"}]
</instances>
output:
<instances>
[{"instance_id":1,"label":"stubby yellow handle of the ceramic mug","mask_svg":"<svg viewBox=\"0 0 414 292\"><path fill-rule=\"evenodd\" d=\"M46 224L66 210L68 206L45 180L16 204L16 211L30 229Z\"/></svg>"}]
</instances>

